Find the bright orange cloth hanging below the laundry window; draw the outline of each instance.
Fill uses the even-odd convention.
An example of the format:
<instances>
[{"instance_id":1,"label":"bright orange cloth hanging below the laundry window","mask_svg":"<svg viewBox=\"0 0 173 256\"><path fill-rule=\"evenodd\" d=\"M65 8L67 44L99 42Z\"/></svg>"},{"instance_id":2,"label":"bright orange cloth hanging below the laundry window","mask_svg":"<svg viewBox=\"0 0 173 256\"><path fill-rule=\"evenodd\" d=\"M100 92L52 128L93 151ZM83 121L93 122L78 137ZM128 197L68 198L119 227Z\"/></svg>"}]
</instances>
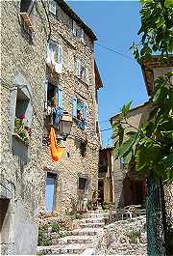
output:
<instances>
[{"instance_id":1,"label":"bright orange cloth hanging below the laundry window","mask_svg":"<svg viewBox=\"0 0 173 256\"><path fill-rule=\"evenodd\" d=\"M50 130L49 139L50 139L50 152L51 152L52 159L54 161L58 161L61 159L62 154L65 150L65 147L57 146L56 134L55 134L54 128L51 128Z\"/></svg>"}]
</instances>

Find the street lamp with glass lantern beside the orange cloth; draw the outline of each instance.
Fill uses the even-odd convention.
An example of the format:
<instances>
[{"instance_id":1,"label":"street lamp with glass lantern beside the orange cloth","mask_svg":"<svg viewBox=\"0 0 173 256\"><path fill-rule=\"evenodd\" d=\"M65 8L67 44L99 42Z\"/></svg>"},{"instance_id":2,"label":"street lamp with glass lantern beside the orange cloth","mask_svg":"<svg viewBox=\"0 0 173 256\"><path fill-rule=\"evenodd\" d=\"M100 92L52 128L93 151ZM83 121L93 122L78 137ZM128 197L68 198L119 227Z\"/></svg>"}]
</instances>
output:
<instances>
[{"instance_id":1,"label":"street lamp with glass lantern beside the orange cloth","mask_svg":"<svg viewBox=\"0 0 173 256\"><path fill-rule=\"evenodd\" d=\"M64 113L59 123L60 134L62 138L65 140L67 136L70 134L70 130L72 127L73 121L72 117L68 113Z\"/></svg>"}]
</instances>

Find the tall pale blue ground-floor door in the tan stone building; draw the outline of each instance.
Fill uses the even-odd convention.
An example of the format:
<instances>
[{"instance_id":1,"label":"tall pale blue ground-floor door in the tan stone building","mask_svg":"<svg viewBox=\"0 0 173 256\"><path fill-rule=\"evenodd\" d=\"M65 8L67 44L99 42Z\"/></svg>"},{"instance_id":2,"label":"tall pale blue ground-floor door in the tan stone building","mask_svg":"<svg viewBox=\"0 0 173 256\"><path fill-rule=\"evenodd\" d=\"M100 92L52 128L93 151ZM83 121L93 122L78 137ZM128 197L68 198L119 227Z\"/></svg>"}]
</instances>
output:
<instances>
[{"instance_id":1,"label":"tall pale blue ground-floor door in the tan stone building","mask_svg":"<svg viewBox=\"0 0 173 256\"><path fill-rule=\"evenodd\" d=\"M55 195L56 195L56 180L57 175L47 173L46 178L46 210L52 212L55 208Z\"/></svg>"}]
</instances>

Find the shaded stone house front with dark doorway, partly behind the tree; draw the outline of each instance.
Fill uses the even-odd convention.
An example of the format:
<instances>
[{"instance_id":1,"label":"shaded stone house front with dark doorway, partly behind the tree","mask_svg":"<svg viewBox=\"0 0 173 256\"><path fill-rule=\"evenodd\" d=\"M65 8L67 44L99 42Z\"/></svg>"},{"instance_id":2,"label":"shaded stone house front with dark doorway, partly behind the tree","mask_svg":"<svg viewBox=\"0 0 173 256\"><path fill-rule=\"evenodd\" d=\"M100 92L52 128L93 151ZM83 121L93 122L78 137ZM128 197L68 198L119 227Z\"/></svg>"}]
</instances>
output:
<instances>
[{"instance_id":1,"label":"shaded stone house front with dark doorway, partly behind the tree","mask_svg":"<svg viewBox=\"0 0 173 256\"><path fill-rule=\"evenodd\" d=\"M131 109L127 116L128 123L131 126L138 128L146 121L148 110L149 103L147 102ZM118 115L111 117L111 125L114 124L117 117ZM125 133L130 130L133 130L133 128L126 128ZM113 156L112 149L111 155ZM145 179L139 179L135 170L127 170L124 167L122 160L115 160L113 157L112 164L115 208L142 204L145 198Z\"/></svg>"}]
</instances>

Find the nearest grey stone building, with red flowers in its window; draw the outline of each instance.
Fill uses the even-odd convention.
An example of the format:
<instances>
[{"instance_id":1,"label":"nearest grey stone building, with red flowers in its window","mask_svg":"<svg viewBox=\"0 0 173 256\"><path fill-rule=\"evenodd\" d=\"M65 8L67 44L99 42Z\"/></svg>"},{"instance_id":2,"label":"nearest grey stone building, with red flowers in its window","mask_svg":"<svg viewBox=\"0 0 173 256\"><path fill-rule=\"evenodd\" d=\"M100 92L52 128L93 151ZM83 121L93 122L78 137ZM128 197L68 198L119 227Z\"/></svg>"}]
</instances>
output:
<instances>
[{"instance_id":1,"label":"nearest grey stone building, with red flowers in its window","mask_svg":"<svg viewBox=\"0 0 173 256\"><path fill-rule=\"evenodd\" d=\"M35 254L46 14L41 1L1 1L2 254Z\"/></svg>"}]
</instances>

